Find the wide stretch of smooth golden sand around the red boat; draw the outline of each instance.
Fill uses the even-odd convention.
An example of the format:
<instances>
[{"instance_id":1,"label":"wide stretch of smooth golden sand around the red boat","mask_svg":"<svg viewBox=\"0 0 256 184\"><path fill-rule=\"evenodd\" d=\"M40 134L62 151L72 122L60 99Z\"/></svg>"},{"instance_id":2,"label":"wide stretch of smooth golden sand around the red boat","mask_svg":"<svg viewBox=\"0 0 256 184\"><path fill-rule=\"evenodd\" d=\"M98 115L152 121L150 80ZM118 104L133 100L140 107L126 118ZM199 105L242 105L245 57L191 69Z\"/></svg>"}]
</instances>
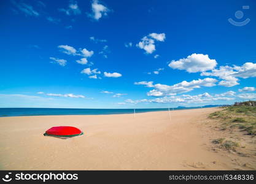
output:
<instances>
[{"instance_id":1,"label":"wide stretch of smooth golden sand around the red boat","mask_svg":"<svg viewBox=\"0 0 256 184\"><path fill-rule=\"evenodd\" d=\"M255 156L212 150L217 108L123 115L0 118L0 169L234 170L255 169ZM45 137L52 126L76 126L84 136Z\"/></svg>"}]
</instances>

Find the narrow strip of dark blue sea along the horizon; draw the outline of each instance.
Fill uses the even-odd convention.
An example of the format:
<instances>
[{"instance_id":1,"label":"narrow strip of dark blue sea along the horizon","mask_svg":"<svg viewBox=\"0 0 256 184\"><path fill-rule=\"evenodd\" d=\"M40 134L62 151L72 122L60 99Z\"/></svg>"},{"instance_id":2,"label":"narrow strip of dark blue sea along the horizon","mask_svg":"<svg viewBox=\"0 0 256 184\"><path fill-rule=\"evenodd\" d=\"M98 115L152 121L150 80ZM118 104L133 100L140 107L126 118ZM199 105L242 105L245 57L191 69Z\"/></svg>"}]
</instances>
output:
<instances>
[{"instance_id":1,"label":"narrow strip of dark blue sea along the horizon","mask_svg":"<svg viewBox=\"0 0 256 184\"><path fill-rule=\"evenodd\" d=\"M201 107L160 109L57 109L57 108L0 108L0 117L42 116L42 115L107 115L122 113L157 112L167 110L197 109Z\"/></svg>"}]
</instances>

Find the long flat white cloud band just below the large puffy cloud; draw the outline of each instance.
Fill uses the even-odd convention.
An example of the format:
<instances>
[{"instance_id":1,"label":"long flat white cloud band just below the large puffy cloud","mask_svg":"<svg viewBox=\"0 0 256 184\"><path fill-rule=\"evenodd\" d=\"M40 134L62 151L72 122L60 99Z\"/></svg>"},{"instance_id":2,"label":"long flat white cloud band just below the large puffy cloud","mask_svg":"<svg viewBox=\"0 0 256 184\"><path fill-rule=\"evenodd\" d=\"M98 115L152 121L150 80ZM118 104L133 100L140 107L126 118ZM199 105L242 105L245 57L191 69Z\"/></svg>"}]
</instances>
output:
<instances>
[{"instance_id":1,"label":"long flat white cloud band just below the large puffy cloud","mask_svg":"<svg viewBox=\"0 0 256 184\"><path fill-rule=\"evenodd\" d=\"M215 86L215 83L217 82L216 79L212 78L206 78L206 79L198 79L198 80L192 80L190 82L182 81L180 83L177 83L175 85L163 85L160 83L157 83L153 85L153 82L135 82L135 85L145 85L149 88L155 88L155 91L153 93L147 93L149 94L157 94L158 92L163 93L162 96L168 95L169 93L186 93L188 91L192 91L195 88L200 88L201 86L211 87ZM158 94L161 94L158 93Z\"/></svg>"}]
</instances>

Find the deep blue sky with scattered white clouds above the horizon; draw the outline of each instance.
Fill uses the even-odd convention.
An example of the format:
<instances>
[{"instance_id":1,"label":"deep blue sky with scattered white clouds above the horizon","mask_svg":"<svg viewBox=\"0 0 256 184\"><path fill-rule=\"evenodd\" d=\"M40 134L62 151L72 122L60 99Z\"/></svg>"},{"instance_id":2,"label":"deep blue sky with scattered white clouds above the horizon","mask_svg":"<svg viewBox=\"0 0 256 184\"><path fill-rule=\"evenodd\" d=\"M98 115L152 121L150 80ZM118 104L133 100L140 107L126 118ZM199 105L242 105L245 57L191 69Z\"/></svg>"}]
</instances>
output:
<instances>
[{"instance_id":1,"label":"deep blue sky with scattered white clouds above the horizon","mask_svg":"<svg viewBox=\"0 0 256 184\"><path fill-rule=\"evenodd\" d=\"M0 107L256 99L254 0L0 4Z\"/></svg>"}]
</instances>

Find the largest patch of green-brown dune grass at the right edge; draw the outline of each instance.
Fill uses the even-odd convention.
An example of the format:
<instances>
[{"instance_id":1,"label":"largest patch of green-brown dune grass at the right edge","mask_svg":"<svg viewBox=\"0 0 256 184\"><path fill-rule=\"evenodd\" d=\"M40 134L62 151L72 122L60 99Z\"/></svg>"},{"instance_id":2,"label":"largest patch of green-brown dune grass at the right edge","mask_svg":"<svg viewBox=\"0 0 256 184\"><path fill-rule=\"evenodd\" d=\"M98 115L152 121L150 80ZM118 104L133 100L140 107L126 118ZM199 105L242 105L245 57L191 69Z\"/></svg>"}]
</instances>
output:
<instances>
[{"instance_id":1,"label":"largest patch of green-brown dune grass at the right edge","mask_svg":"<svg viewBox=\"0 0 256 184\"><path fill-rule=\"evenodd\" d=\"M230 106L225 107L219 112L209 115L209 118L220 120L221 129L239 128L246 131L249 135L256 135L256 107L255 106Z\"/></svg>"}]
</instances>

